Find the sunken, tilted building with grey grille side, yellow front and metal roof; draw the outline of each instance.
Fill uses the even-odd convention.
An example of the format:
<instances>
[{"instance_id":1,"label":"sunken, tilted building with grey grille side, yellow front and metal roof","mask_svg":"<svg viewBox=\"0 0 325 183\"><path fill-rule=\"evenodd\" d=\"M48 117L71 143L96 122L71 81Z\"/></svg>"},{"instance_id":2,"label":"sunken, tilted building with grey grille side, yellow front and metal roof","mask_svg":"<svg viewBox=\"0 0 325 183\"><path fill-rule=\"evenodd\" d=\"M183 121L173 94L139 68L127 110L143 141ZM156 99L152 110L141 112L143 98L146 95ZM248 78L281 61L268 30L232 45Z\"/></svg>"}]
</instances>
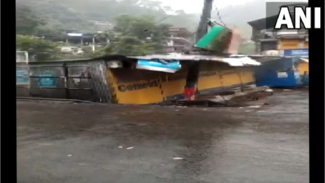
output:
<instances>
[{"instance_id":1,"label":"sunken, tilted building with grey grille side, yellow front and metal roof","mask_svg":"<svg viewBox=\"0 0 325 183\"><path fill-rule=\"evenodd\" d=\"M17 63L18 64L18 63ZM225 91L255 82L246 56L168 54L52 61L17 65L24 83L17 83L17 96L68 98L118 104L152 104L184 98L184 86L195 80L197 92ZM18 80L17 80L18 81Z\"/></svg>"}]
</instances>

